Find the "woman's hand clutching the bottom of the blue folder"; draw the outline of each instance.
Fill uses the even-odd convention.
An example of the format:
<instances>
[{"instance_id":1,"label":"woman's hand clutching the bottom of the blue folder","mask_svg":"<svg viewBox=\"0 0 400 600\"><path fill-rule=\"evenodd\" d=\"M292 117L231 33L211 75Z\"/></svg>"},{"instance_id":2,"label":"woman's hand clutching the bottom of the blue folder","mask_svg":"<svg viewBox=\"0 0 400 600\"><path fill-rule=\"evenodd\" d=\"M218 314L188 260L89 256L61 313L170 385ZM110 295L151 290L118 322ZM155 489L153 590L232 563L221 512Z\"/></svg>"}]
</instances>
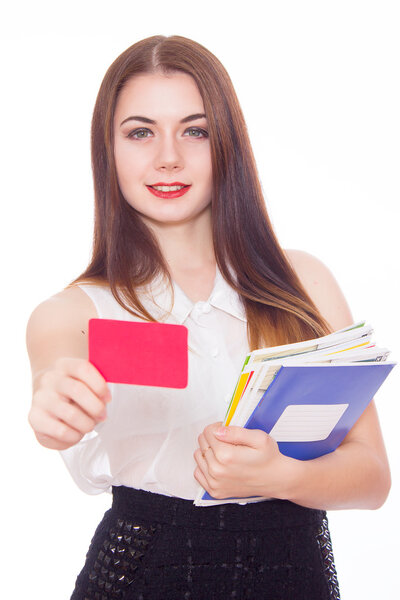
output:
<instances>
[{"instance_id":1,"label":"woman's hand clutching the bottom of the blue folder","mask_svg":"<svg viewBox=\"0 0 400 600\"><path fill-rule=\"evenodd\" d=\"M198 441L194 477L213 498L286 497L297 461L264 431L213 423Z\"/></svg>"}]
</instances>

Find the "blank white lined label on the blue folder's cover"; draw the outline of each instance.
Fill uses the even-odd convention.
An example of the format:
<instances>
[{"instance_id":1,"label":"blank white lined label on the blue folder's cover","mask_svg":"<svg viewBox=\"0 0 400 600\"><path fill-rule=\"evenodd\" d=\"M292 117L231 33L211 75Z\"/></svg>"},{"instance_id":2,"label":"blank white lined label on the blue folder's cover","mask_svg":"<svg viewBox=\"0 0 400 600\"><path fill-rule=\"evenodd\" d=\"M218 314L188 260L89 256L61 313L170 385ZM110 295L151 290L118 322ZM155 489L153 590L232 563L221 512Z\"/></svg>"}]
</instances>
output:
<instances>
[{"instance_id":1,"label":"blank white lined label on the blue folder's cover","mask_svg":"<svg viewBox=\"0 0 400 600\"><path fill-rule=\"evenodd\" d=\"M324 440L338 423L348 404L291 404L269 435L276 442L317 442Z\"/></svg>"}]
</instances>

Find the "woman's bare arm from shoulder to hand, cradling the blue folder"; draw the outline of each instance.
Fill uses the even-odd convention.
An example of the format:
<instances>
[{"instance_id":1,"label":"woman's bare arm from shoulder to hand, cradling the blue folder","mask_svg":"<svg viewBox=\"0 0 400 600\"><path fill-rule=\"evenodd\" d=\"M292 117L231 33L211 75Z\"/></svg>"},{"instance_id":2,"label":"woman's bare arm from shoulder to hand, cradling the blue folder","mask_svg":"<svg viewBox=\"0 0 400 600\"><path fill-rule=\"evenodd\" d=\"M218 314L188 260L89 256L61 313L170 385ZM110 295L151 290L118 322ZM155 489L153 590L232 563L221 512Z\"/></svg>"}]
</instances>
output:
<instances>
[{"instance_id":1,"label":"woman's bare arm from shoulder to hand, cradling the blue folder","mask_svg":"<svg viewBox=\"0 0 400 600\"><path fill-rule=\"evenodd\" d=\"M289 251L288 258L332 328L350 325L350 310L330 271L304 252ZM210 425L199 436L199 444L195 477L216 498L263 495L310 508L373 509L383 504L390 489L373 402L335 452L309 461L288 458L264 432L241 427Z\"/></svg>"}]
</instances>

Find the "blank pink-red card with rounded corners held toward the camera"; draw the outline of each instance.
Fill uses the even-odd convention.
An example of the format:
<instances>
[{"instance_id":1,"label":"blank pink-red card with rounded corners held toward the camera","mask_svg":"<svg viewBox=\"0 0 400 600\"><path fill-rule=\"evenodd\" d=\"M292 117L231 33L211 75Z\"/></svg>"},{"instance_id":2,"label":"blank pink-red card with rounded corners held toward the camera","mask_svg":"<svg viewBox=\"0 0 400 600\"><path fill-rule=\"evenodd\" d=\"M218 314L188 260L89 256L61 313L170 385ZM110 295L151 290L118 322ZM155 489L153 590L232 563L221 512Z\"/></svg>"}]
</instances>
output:
<instances>
[{"instance_id":1,"label":"blank pink-red card with rounded corners held toward the camera","mask_svg":"<svg viewBox=\"0 0 400 600\"><path fill-rule=\"evenodd\" d=\"M185 388L188 330L184 325L89 320L89 361L106 381Z\"/></svg>"}]
</instances>

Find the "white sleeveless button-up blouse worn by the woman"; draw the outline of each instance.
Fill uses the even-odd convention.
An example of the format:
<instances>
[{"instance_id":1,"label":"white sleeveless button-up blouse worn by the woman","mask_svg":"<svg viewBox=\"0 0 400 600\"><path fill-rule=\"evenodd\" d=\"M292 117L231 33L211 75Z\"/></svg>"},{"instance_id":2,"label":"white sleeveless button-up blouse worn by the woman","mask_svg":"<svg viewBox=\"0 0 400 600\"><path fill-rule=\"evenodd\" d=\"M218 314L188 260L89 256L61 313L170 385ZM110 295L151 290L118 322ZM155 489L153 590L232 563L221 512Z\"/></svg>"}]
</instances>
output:
<instances>
[{"instance_id":1,"label":"white sleeveless button-up blouse worn by the woman","mask_svg":"<svg viewBox=\"0 0 400 600\"><path fill-rule=\"evenodd\" d=\"M139 321L118 304L107 287L80 285L99 318ZM198 483L193 453L198 436L225 415L249 350L240 297L217 269L207 302L191 300L174 283L174 302L161 280L140 300L158 320L189 331L189 380L185 389L109 384L106 421L61 451L77 485L88 494L111 486L193 500Z\"/></svg>"}]
</instances>

